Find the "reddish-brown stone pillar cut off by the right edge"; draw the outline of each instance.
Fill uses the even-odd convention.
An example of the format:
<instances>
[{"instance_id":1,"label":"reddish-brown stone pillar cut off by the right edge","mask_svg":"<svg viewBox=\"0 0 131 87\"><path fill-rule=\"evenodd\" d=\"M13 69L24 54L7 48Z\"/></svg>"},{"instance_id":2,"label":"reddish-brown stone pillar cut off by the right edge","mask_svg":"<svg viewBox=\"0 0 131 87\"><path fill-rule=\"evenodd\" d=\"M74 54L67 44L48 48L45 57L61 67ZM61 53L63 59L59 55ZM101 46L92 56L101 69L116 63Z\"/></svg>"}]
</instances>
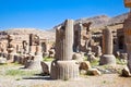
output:
<instances>
[{"instance_id":1,"label":"reddish-brown stone pillar cut off by the right edge","mask_svg":"<svg viewBox=\"0 0 131 87\"><path fill-rule=\"evenodd\" d=\"M124 20L123 33L124 33L124 41L126 41L126 47L128 52L128 67L131 73L131 16Z\"/></svg>"}]
</instances>

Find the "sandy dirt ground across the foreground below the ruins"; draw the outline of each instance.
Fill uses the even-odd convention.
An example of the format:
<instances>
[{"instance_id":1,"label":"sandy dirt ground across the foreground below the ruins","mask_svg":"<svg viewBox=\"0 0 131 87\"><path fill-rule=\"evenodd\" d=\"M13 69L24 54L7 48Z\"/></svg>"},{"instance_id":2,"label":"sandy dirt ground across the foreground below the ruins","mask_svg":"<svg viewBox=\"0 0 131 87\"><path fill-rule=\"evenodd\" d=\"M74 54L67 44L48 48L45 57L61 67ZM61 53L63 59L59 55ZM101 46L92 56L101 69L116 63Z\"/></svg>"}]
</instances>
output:
<instances>
[{"instance_id":1,"label":"sandy dirt ground across the foreground below the ruins","mask_svg":"<svg viewBox=\"0 0 131 87\"><path fill-rule=\"evenodd\" d=\"M0 65L0 87L131 87L131 77L119 74L102 76L81 75L75 80L53 80L49 76L10 76L5 70L19 70L21 65Z\"/></svg>"}]
</instances>

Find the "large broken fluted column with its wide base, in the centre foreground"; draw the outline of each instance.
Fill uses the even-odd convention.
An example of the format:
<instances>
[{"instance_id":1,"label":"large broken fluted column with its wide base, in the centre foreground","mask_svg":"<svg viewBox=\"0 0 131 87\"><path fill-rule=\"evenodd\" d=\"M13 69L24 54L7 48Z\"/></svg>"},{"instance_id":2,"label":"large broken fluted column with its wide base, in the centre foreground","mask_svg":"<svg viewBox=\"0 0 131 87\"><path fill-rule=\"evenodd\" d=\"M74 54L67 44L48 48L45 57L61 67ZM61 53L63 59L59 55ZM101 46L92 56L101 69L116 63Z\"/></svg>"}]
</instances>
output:
<instances>
[{"instance_id":1,"label":"large broken fluted column with its wide base, in the centre foreground","mask_svg":"<svg viewBox=\"0 0 131 87\"><path fill-rule=\"evenodd\" d=\"M72 60L73 21L67 20L56 29L56 60L51 63L50 77L74 79L79 77L79 65Z\"/></svg>"}]
</instances>

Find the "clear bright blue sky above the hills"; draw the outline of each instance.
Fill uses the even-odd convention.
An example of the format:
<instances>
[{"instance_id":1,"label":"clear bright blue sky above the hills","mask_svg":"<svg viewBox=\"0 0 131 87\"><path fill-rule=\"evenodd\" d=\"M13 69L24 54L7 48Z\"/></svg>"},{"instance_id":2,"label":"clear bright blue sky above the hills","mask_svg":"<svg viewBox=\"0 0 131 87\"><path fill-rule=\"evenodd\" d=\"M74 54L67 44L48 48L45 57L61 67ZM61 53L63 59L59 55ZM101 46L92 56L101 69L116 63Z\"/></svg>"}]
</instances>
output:
<instances>
[{"instance_id":1,"label":"clear bright blue sky above the hills","mask_svg":"<svg viewBox=\"0 0 131 87\"><path fill-rule=\"evenodd\" d=\"M0 0L0 29L48 29L66 18L126 13L123 0Z\"/></svg>"}]
</instances>

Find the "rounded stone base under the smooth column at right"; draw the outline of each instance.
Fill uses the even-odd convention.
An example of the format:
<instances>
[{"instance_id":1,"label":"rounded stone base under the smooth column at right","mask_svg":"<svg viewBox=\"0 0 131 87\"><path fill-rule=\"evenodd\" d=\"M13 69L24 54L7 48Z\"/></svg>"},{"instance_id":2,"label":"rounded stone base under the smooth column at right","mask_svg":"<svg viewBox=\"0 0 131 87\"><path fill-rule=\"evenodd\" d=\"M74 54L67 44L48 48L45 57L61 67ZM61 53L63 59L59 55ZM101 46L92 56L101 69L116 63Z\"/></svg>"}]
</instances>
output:
<instances>
[{"instance_id":1,"label":"rounded stone base under the smooth column at right","mask_svg":"<svg viewBox=\"0 0 131 87\"><path fill-rule=\"evenodd\" d=\"M114 54L104 54L104 55L102 55L99 65L105 65L105 64L116 65L115 55Z\"/></svg>"}]
</instances>

